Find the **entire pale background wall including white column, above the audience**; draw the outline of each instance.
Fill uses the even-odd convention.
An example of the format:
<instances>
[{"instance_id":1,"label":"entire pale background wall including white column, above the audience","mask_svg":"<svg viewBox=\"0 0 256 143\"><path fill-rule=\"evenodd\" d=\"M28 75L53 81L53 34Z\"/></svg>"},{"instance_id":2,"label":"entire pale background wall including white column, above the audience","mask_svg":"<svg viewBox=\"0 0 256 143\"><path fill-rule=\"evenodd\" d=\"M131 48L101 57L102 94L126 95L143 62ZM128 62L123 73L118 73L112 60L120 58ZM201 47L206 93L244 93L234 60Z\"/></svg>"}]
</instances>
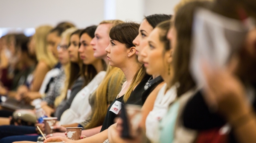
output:
<instances>
[{"instance_id":1,"label":"entire pale background wall including white column, above the audience","mask_svg":"<svg viewBox=\"0 0 256 143\"><path fill-rule=\"evenodd\" d=\"M150 14L173 14L180 0L0 0L0 37L31 36L39 25L70 21L78 28L102 20L140 22Z\"/></svg>"}]
</instances>

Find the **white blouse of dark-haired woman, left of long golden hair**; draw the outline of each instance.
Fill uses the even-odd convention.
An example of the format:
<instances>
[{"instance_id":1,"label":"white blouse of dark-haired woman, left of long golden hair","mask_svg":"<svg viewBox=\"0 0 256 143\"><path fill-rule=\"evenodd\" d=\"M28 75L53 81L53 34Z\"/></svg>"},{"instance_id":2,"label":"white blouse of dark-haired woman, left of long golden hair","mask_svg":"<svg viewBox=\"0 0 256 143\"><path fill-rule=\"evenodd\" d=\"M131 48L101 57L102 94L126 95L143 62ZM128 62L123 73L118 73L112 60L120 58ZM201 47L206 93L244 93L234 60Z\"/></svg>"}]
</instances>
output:
<instances>
[{"instance_id":1,"label":"white blouse of dark-haired woman, left of long golden hair","mask_svg":"<svg viewBox=\"0 0 256 143\"><path fill-rule=\"evenodd\" d=\"M81 123L85 121L88 115L91 113L91 107L89 104L89 96L97 89L99 84L105 77L106 72L99 72L87 86L85 86L76 97L73 99L70 108L63 112L61 115L60 124L67 125L72 123Z\"/></svg>"}]
</instances>

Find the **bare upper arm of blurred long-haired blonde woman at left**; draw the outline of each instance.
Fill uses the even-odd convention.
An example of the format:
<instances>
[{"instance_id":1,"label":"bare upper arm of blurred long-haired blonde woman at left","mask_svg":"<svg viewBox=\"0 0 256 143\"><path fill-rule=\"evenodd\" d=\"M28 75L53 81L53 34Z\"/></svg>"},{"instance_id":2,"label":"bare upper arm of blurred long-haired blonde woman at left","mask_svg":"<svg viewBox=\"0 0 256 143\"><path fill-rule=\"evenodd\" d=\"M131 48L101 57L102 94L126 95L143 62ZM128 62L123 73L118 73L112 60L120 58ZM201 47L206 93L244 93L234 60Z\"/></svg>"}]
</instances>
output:
<instances>
[{"instance_id":1,"label":"bare upper arm of blurred long-haired blonde woman at left","mask_svg":"<svg viewBox=\"0 0 256 143\"><path fill-rule=\"evenodd\" d=\"M35 72L34 79L30 88L30 91L39 91L41 84L44 80L44 76L50 70L50 67L45 62L38 62Z\"/></svg>"}]
</instances>

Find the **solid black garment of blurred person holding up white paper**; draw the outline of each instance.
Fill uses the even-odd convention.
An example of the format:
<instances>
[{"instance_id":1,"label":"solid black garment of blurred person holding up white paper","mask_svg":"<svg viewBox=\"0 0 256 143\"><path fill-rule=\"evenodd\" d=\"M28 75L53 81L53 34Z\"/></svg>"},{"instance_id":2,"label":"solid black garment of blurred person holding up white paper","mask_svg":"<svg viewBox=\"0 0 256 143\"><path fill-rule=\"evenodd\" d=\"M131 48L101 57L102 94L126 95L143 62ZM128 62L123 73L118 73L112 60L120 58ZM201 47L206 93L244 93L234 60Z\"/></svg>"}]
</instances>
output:
<instances>
[{"instance_id":1,"label":"solid black garment of blurred person holding up white paper","mask_svg":"<svg viewBox=\"0 0 256 143\"><path fill-rule=\"evenodd\" d=\"M256 86L253 86L256 89ZM256 101L253 102L253 108L256 110ZM199 91L186 104L183 111L184 126L190 129L207 130L223 126L226 121L218 113L210 112L204 97ZM237 143L233 131L231 130L229 143Z\"/></svg>"}]
</instances>

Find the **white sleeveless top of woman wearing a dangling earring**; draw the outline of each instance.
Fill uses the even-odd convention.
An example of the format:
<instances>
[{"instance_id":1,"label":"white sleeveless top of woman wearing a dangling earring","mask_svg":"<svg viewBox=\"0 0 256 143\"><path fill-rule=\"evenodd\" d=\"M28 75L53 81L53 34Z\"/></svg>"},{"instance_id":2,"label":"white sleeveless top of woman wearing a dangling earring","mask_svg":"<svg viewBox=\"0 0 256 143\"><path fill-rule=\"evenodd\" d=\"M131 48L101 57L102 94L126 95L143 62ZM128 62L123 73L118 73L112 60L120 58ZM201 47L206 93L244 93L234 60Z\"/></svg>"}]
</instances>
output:
<instances>
[{"instance_id":1,"label":"white sleeveless top of woman wearing a dangling earring","mask_svg":"<svg viewBox=\"0 0 256 143\"><path fill-rule=\"evenodd\" d=\"M146 136L152 143L159 142L159 122L166 115L169 109L169 105L175 101L177 96L176 86L172 86L166 91L166 84L159 90L157 98L154 102L154 107L151 112L149 112L146 121Z\"/></svg>"}]
</instances>

